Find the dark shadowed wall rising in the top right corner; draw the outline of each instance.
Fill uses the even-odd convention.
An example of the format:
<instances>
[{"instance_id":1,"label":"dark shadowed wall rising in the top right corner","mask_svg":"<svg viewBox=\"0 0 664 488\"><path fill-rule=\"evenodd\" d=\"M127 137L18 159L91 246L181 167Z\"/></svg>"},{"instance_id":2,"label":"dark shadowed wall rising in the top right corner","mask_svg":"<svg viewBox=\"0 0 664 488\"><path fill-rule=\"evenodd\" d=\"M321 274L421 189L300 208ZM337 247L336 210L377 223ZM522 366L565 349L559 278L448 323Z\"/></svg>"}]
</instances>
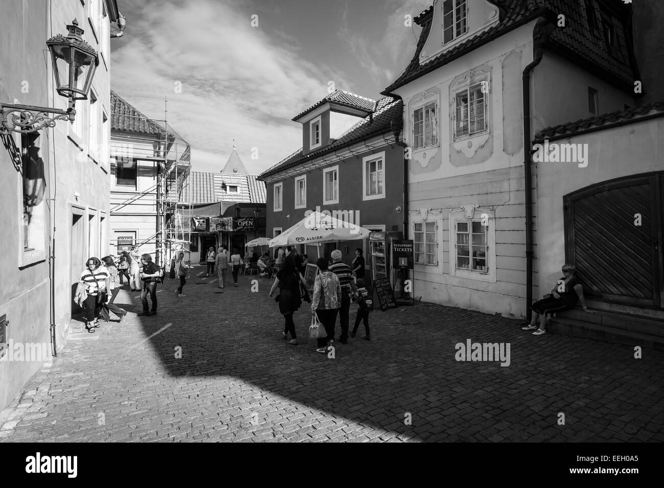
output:
<instances>
[{"instance_id":1,"label":"dark shadowed wall rising in the top right corner","mask_svg":"<svg viewBox=\"0 0 664 488\"><path fill-rule=\"evenodd\" d=\"M661 67L664 66L664 2L631 2L634 55L643 83L641 105L664 101Z\"/></svg>"}]
</instances>

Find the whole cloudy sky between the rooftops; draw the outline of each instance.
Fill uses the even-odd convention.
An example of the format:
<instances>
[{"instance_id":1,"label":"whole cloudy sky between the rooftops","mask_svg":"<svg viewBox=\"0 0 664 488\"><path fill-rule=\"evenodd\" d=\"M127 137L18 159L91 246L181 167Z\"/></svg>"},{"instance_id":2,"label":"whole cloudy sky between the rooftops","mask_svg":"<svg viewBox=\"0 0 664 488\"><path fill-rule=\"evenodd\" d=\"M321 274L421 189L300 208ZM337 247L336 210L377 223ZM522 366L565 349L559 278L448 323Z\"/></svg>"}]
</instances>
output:
<instances>
[{"instance_id":1,"label":"whole cloudy sky between the rooftops","mask_svg":"<svg viewBox=\"0 0 664 488\"><path fill-rule=\"evenodd\" d=\"M111 41L111 86L155 119L168 98L168 122L191 143L193 170L220 171L235 139L258 174L301 147L291 118L323 98L330 81L379 98L420 34L404 16L431 3L119 0L127 27Z\"/></svg>"}]
</instances>

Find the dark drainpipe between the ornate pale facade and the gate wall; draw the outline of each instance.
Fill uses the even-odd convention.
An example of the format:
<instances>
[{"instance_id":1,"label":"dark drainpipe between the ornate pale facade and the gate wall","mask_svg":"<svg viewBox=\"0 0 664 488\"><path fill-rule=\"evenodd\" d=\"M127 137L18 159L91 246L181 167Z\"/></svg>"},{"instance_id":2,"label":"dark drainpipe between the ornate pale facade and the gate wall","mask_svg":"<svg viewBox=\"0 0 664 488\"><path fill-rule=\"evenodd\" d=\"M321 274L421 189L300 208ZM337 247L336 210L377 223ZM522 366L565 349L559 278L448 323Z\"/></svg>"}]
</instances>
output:
<instances>
[{"instance_id":1,"label":"dark drainpipe between the ornate pale facade and the gate wall","mask_svg":"<svg viewBox=\"0 0 664 488\"><path fill-rule=\"evenodd\" d=\"M535 59L523 70L523 172L525 180L526 204L526 317L532 317L533 303L533 173L531 164L533 141L531 141L531 72L540 64L544 54L544 44L553 27L543 17L533 29Z\"/></svg>"}]
</instances>

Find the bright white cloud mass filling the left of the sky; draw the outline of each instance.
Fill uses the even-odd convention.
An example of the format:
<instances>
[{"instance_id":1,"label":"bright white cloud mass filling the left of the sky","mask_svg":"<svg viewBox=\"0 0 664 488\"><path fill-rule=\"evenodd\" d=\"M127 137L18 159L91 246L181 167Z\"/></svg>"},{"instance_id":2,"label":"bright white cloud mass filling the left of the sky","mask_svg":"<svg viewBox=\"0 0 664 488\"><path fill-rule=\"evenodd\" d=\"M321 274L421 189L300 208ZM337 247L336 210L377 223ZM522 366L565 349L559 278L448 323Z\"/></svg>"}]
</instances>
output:
<instances>
[{"instance_id":1,"label":"bright white cloud mass filling the left of the sky","mask_svg":"<svg viewBox=\"0 0 664 488\"><path fill-rule=\"evenodd\" d=\"M239 7L216 1L143 7L125 36L112 54L112 88L155 119L167 96L169 124L191 143L197 171L220 171L232 139L250 172L274 165L301 145L290 119L327 94L327 80L339 80L299 58L294 38L271 38Z\"/></svg>"}]
</instances>

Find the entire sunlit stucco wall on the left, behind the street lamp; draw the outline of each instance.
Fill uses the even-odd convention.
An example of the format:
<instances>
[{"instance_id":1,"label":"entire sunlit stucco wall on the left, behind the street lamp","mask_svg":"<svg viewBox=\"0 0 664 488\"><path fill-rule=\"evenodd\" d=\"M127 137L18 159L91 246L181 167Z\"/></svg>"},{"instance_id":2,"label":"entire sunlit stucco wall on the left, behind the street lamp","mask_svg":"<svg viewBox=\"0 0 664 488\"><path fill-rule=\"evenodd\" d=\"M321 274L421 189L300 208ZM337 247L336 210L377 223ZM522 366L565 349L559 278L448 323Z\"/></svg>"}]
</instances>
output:
<instances>
[{"instance_id":1,"label":"entire sunlit stucco wall on the left, behind the street lamp","mask_svg":"<svg viewBox=\"0 0 664 488\"><path fill-rule=\"evenodd\" d=\"M100 2L101 12L101 2ZM92 33L88 17L90 2L84 7L79 0L46 2L42 0L7 0L3 3L0 16L0 99L13 103L34 104L66 109L66 98L59 96L52 84L52 67L45 40L58 33L67 34L66 25L74 18L84 29L84 39L99 50L98 39ZM108 23L106 17L104 22ZM100 33L97 33L100 35ZM110 114L110 85L108 56L100 58L100 65L92 85L98 96L100 112ZM22 92L23 82L28 82L29 90ZM39 145L41 157L46 163L46 197L50 212L46 211L44 228L44 260L25 268L19 268L19 252L23 252L20 238L21 195L18 186L18 173L9 159L9 154L0 148L0 199L3 212L0 225L3 233L9 236L4 241L7 256L3 260L3 285L0 287L0 314L7 313L11 326L7 337L23 343L50 343L50 293L48 281L49 231L56 228L52 237L55 246L54 289L56 345L58 351L66 343L70 331L70 310L72 285L78 280L72 276L80 274L84 268L86 255L81 262L70 259L72 206L78 206L84 213L82 246L86 254L105 254L104 244L108 236L109 178L108 161L104 157L96 159L88 154L100 153L100 147L90 147L89 117L90 101L76 102L76 118L84 121L82 137L77 137L69 122L56 122L53 129L40 131ZM107 132L108 133L108 132ZM102 136L103 137L103 136ZM78 198L74 196L78 193ZM53 217L54 216L54 217ZM92 216L92 236L88 236L88 218ZM49 220L52 219L52 220ZM102 218L104 218L102 222ZM92 245L88 244L88 238ZM41 366L39 362L0 363L0 408L4 408L19 392L25 382Z\"/></svg>"}]
</instances>

